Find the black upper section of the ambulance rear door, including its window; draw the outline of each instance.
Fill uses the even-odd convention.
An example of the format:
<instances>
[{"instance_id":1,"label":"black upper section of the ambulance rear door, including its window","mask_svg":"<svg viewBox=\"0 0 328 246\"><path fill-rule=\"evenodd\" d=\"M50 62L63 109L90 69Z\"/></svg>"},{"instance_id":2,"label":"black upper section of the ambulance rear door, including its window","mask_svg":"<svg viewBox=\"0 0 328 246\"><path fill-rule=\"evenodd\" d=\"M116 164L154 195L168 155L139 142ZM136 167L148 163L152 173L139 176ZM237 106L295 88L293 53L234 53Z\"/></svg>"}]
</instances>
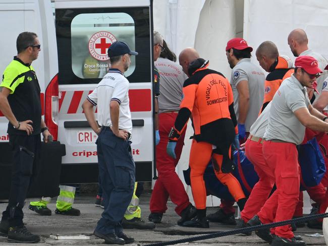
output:
<instances>
[{"instance_id":1,"label":"black upper section of the ambulance rear door, including its window","mask_svg":"<svg viewBox=\"0 0 328 246\"><path fill-rule=\"evenodd\" d=\"M148 8L59 9L56 32L60 84L98 83L110 67L107 49L117 40L139 52L131 56L128 80L151 81Z\"/></svg>"}]
</instances>

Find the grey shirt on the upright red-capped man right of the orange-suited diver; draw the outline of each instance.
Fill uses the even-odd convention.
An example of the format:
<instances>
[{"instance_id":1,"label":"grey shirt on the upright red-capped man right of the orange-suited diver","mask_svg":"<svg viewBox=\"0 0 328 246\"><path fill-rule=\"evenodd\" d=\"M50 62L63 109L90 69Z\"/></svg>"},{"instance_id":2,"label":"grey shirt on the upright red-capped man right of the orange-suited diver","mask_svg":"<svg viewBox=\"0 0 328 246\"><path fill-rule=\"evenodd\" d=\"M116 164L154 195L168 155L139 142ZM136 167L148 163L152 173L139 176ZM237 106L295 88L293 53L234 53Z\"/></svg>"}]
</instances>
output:
<instances>
[{"instance_id":1,"label":"grey shirt on the upright red-capped man right of the orange-suited diver","mask_svg":"<svg viewBox=\"0 0 328 246\"><path fill-rule=\"evenodd\" d=\"M265 81L264 73L260 67L251 63L250 58L243 58L238 61L231 73L230 84L234 94L234 108L237 120L239 120L239 95L237 85L243 80L248 81L249 88L249 109L245 121L245 129L249 132L263 103Z\"/></svg>"}]
</instances>

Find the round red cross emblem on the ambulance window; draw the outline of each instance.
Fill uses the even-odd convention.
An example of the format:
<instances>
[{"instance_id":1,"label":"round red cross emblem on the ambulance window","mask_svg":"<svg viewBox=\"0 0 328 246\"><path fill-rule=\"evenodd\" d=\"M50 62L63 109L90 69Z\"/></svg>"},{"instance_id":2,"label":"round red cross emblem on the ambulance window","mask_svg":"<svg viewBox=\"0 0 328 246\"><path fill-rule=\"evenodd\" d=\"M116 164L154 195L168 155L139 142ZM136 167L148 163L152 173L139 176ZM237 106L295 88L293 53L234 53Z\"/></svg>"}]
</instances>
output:
<instances>
[{"instance_id":1,"label":"round red cross emblem on the ambulance window","mask_svg":"<svg viewBox=\"0 0 328 246\"><path fill-rule=\"evenodd\" d=\"M116 37L112 33L97 32L89 40L89 52L97 60L108 60L107 50L115 41L117 41Z\"/></svg>"}]
</instances>

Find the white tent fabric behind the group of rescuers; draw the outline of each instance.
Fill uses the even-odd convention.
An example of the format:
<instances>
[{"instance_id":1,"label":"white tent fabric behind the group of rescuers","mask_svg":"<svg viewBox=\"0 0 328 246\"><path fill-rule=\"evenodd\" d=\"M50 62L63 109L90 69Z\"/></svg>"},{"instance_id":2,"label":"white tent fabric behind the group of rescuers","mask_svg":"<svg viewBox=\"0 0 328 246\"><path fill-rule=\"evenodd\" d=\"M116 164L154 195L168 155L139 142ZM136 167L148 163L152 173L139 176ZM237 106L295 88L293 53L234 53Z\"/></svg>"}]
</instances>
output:
<instances>
[{"instance_id":1,"label":"white tent fabric behind the group of rescuers","mask_svg":"<svg viewBox=\"0 0 328 246\"><path fill-rule=\"evenodd\" d=\"M302 28L309 39L309 47L328 58L328 5L326 0L154 0L154 29L159 31L177 55L186 47L194 47L201 57L209 59L210 68L220 71L229 80L225 47L234 37L243 37L254 51L258 45L270 40L280 54L295 59L287 44L290 31ZM255 52L253 62L257 64ZM188 126L185 147L177 167L188 168ZM186 188L192 199L190 187ZM208 197L208 206L217 206L218 200ZM308 199L308 198L307 198ZM307 202L304 212L308 212Z\"/></svg>"}]
</instances>

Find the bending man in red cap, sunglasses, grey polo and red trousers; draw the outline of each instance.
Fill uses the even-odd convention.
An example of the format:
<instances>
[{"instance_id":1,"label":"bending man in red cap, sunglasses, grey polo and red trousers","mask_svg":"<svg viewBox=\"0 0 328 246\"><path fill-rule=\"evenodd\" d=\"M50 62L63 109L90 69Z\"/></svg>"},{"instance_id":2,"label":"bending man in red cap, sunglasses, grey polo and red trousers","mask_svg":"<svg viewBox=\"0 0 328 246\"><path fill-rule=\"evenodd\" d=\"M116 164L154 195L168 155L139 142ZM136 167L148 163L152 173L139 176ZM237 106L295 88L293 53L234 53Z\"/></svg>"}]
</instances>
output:
<instances>
[{"instance_id":1,"label":"bending man in red cap, sunglasses, grey polo and red trousers","mask_svg":"<svg viewBox=\"0 0 328 246\"><path fill-rule=\"evenodd\" d=\"M324 122L328 117L312 107L305 88L312 88L321 73L315 58L306 55L297 57L294 75L284 80L272 99L263 156L271 167L264 171L275 178L277 190L260 212L247 222L251 226L289 220L294 214L300 186L296 145L302 143L305 127L319 132L328 131L328 124ZM278 226L271 232L275 234L272 246L306 245L294 237L290 225Z\"/></svg>"}]
</instances>

